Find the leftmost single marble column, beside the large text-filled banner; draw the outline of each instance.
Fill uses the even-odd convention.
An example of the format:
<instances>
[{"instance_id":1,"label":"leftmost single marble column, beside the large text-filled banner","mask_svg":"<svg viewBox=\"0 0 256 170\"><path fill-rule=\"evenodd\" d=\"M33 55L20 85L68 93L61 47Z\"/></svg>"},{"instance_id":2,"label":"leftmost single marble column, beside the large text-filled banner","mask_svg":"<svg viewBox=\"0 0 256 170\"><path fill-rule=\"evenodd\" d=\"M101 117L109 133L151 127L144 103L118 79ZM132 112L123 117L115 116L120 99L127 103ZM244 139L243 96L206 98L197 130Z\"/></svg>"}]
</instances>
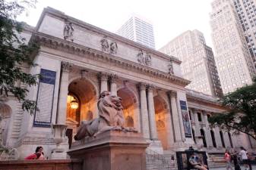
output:
<instances>
[{"instance_id":1,"label":"leftmost single marble column, beside the large text-filled banner","mask_svg":"<svg viewBox=\"0 0 256 170\"><path fill-rule=\"evenodd\" d=\"M67 112L67 98L68 98L68 74L73 64L62 61L61 63L61 80L58 92L58 113L57 113L57 124L66 124L66 112Z\"/></svg>"}]
</instances>

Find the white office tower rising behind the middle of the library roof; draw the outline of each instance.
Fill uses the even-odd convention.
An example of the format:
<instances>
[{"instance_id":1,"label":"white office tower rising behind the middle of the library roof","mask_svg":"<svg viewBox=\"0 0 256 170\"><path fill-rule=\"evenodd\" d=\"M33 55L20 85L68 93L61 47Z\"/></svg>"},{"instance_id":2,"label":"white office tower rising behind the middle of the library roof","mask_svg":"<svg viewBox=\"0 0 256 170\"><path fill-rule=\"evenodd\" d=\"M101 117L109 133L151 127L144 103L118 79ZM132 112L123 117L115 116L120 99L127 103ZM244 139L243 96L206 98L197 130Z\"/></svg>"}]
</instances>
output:
<instances>
[{"instance_id":1,"label":"white office tower rising behind the middle of the library roof","mask_svg":"<svg viewBox=\"0 0 256 170\"><path fill-rule=\"evenodd\" d=\"M155 49L153 25L141 17L133 15L116 33L126 39L131 39L141 45Z\"/></svg>"}]
</instances>

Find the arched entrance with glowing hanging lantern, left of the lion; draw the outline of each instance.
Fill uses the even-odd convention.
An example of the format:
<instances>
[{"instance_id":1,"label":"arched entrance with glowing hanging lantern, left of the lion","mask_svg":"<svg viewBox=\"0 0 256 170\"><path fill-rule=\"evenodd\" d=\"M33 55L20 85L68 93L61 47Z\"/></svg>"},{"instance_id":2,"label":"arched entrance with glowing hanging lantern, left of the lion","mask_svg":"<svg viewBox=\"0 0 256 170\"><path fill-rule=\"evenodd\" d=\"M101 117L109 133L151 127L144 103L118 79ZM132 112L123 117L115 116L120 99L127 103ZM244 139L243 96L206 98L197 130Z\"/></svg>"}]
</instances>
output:
<instances>
[{"instance_id":1,"label":"arched entrance with glowing hanging lantern, left of the lion","mask_svg":"<svg viewBox=\"0 0 256 170\"><path fill-rule=\"evenodd\" d=\"M68 85L67 98L68 143L73 141L77 127L83 120L90 120L96 116L96 89L87 79L74 79Z\"/></svg>"}]
</instances>

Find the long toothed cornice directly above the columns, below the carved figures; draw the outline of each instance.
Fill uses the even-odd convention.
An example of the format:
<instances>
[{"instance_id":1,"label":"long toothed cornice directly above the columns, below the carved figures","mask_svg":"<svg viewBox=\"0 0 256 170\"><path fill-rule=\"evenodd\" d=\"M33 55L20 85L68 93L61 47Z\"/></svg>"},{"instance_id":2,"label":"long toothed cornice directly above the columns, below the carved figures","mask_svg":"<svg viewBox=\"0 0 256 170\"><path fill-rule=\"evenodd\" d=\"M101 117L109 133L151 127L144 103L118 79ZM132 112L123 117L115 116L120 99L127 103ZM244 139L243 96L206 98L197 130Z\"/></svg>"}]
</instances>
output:
<instances>
[{"instance_id":1,"label":"long toothed cornice directly above the columns, below the carved figures","mask_svg":"<svg viewBox=\"0 0 256 170\"><path fill-rule=\"evenodd\" d=\"M80 57L87 57L90 60L100 60L104 63L110 63L114 64L115 66L125 68L126 70L134 70L134 72L143 73L147 76L157 77L158 79L165 79L169 82L179 84L184 87L190 83L190 81L187 79L183 79L179 76L164 73L163 71L150 68L149 66L134 63L130 60L125 60L112 54L104 53L103 51L87 48L74 42L68 42L55 36L49 36L42 32L33 32L31 39L35 39L36 42L40 43L40 45L46 48L52 48L57 51L64 51L68 54L74 54Z\"/></svg>"}]
</instances>

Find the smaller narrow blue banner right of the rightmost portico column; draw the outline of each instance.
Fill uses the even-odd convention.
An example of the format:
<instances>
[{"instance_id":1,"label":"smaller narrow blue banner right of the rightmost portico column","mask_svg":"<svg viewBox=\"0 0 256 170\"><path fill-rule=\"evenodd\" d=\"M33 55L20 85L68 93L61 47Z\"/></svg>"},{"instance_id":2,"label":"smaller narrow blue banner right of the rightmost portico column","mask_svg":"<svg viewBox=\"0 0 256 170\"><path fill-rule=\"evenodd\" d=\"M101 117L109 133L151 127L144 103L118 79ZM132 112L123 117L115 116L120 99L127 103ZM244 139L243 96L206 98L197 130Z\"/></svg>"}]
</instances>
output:
<instances>
[{"instance_id":1,"label":"smaller narrow blue banner right of the rightmost portico column","mask_svg":"<svg viewBox=\"0 0 256 170\"><path fill-rule=\"evenodd\" d=\"M185 101L182 101L182 100L180 100L179 103L181 105L181 110L182 110L182 122L185 130L185 137L191 138L191 128L190 128L187 104Z\"/></svg>"}]
</instances>

